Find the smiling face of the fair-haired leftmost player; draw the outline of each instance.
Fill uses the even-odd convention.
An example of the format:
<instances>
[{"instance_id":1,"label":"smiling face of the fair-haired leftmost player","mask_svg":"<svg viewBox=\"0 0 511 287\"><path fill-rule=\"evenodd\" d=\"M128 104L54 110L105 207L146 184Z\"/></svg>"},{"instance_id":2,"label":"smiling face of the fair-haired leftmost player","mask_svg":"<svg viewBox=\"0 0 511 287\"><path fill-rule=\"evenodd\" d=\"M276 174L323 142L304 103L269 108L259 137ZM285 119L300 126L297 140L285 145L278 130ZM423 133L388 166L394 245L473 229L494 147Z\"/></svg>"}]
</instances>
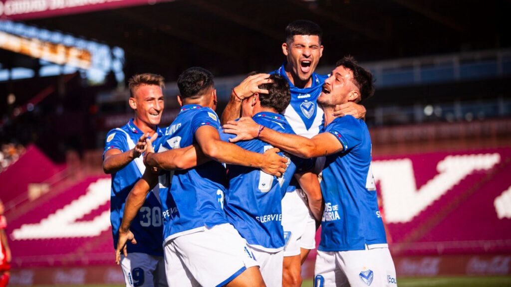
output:
<instances>
[{"instance_id":1,"label":"smiling face of the fair-haired leftmost player","mask_svg":"<svg viewBox=\"0 0 511 287\"><path fill-rule=\"evenodd\" d=\"M149 126L159 125L164 108L161 88L156 85L142 85L135 88L134 96L136 117Z\"/></svg>"}]
</instances>

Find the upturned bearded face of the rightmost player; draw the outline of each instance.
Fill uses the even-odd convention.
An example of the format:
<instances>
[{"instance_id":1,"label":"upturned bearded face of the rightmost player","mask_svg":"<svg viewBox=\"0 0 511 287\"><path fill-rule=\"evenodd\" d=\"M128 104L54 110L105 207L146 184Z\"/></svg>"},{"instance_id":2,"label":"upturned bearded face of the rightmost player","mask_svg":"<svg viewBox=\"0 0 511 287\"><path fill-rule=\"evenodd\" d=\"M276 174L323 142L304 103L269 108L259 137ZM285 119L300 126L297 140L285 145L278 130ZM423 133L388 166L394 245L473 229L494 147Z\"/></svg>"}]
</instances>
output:
<instances>
[{"instance_id":1,"label":"upturned bearded face of the rightmost player","mask_svg":"<svg viewBox=\"0 0 511 287\"><path fill-rule=\"evenodd\" d=\"M330 77L324 81L318 103L325 107L346 103L352 92L358 91L353 81L353 72L350 69L343 66L336 67Z\"/></svg>"}]
</instances>

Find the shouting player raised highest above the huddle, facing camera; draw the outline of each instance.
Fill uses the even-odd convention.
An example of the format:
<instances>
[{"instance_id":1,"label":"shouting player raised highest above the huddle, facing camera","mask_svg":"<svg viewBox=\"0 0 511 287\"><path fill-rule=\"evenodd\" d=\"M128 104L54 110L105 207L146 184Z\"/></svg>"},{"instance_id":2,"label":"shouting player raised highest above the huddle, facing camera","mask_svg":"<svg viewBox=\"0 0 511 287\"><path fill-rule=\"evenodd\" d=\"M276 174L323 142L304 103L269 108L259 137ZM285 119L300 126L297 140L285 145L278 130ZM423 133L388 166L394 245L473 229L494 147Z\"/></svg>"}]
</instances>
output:
<instances>
[{"instance_id":1,"label":"shouting player raised highest above the huddle, facing camera","mask_svg":"<svg viewBox=\"0 0 511 287\"><path fill-rule=\"evenodd\" d=\"M282 52L286 61L271 74L286 78L291 89L291 102L284 115L293 131L308 138L318 134L323 122L323 109L317 104L321 87L328 76L315 73L323 53L322 30L314 22L297 20L286 27L286 40ZM222 123L238 118L241 101L254 92L267 93L259 85L268 81L268 74L247 78L233 89L223 114ZM352 114L357 118L365 115L365 108L353 102L337 106L332 113L336 116ZM290 238L284 250L283 285L301 286L301 264L311 249L316 247L316 222L307 208L306 194L294 182L282 202L284 231Z\"/></svg>"}]
</instances>

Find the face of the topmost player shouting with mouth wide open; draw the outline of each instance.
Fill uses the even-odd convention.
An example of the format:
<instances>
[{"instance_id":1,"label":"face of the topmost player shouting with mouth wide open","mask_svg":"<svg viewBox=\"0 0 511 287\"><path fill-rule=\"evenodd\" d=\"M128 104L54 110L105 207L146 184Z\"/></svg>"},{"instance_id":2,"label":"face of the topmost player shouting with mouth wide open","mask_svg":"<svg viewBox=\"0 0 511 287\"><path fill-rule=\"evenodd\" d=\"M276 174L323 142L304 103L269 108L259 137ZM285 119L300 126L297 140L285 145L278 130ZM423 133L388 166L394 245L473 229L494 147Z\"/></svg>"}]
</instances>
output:
<instances>
[{"instance_id":1,"label":"face of the topmost player shouting with mouth wide open","mask_svg":"<svg viewBox=\"0 0 511 287\"><path fill-rule=\"evenodd\" d=\"M291 43L282 44L291 73L301 81L308 81L323 54L323 46L316 35L294 35Z\"/></svg>"}]
</instances>

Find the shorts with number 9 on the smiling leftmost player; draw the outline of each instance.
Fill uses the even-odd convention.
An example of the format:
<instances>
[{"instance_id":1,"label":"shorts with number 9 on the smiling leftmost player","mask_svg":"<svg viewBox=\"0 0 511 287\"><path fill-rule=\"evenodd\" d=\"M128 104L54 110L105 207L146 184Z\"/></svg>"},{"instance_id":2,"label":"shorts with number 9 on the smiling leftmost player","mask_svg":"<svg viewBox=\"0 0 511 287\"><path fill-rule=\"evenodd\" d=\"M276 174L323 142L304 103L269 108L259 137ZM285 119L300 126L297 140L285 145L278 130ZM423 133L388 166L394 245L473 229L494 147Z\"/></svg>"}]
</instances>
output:
<instances>
[{"instance_id":1,"label":"shorts with number 9 on the smiling leftmost player","mask_svg":"<svg viewBox=\"0 0 511 287\"><path fill-rule=\"evenodd\" d=\"M121 255L121 268L126 287L167 286L165 261L162 256L145 253Z\"/></svg>"}]
</instances>

